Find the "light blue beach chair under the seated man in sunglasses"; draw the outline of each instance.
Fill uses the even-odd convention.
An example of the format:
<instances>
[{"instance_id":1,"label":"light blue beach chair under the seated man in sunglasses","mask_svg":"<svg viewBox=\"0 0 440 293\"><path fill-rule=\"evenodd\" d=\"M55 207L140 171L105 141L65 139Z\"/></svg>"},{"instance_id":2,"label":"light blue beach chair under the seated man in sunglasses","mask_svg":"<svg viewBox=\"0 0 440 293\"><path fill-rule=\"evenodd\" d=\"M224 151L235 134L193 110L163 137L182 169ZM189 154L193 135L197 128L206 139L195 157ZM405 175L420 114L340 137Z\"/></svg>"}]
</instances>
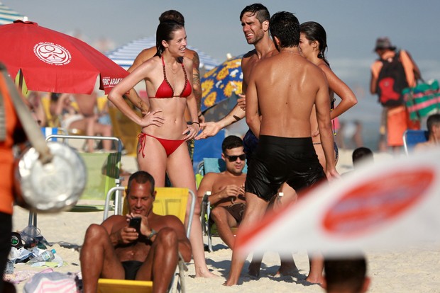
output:
<instances>
[{"instance_id":1,"label":"light blue beach chair under the seated man in sunglasses","mask_svg":"<svg viewBox=\"0 0 440 293\"><path fill-rule=\"evenodd\" d=\"M199 178L196 176L197 188L200 185L200 181L202 181L203 176L206 173L214 172L214 173L220 173L226 170L226 163L223 161L223 159L218 158L204 158L202 162L199 163L197 175L199 175ZM248 166L243 168L243 173L247 173ZM209 216L211 215L211 202L209 202L209 195L211 195L211 192L207 192L202 197L202 205L201 205L201 211L200 211L200 224L202 224L202 231L203 235L207 236L208 241L208 251L213 252L214 249L212 248L212 236L216 236L215 227L214 225L211 226L209 224ZM233 231L237 229L237 227L232 228Z\"/></svg>"}]
</instances>

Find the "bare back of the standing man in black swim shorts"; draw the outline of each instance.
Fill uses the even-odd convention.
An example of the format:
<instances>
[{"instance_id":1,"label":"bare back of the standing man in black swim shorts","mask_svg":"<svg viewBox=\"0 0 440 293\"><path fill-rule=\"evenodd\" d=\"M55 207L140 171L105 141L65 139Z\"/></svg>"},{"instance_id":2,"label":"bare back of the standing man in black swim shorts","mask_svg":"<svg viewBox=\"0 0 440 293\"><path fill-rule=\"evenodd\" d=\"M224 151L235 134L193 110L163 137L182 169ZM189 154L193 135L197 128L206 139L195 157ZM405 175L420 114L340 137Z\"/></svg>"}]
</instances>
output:
<instances>
[{"instance_id":1,"label":"bare back of the standing man in black swim shorts","mask_svg":"<svg viewBox=\"0 0 440 293\"><path fill-rule=\"evenodd\" d=\"M310 115L315 96L322 89L328 91L324 74L319 70L291 50L261 60L253 70L251 81L253 85L258 84L258 91L255 86L248 91L248 100L258 95L262 118L260 130L252 129L254 134L310 137ZM319 97L316 101L325 105ZM328 98L326 102L329 104ZM330 113L330 104L328 109ZM248 110L254 111L252 108Z\"/></svg>"}]
</instances>

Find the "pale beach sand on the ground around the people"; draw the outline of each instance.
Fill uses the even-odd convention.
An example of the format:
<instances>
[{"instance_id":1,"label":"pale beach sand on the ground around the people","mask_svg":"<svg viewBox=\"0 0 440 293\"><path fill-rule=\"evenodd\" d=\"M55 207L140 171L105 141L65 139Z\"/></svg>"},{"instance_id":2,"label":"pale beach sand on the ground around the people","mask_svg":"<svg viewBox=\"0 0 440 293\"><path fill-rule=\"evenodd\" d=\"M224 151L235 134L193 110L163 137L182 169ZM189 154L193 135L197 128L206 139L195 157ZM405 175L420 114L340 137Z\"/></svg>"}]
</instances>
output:
<instances>
[{"instance_id":1,"label":"pale beach sand on the ground around the people","mask_svg":"<svg viewBox=\"0 0 440 293\"><path fill-rule=\"evenodd\" d=\"M375 154L380 159L387 154ZM128 171L136 171L133 158L125 158L123 165ZM351 151L341 151L338 164L340 173L351 168ZM65 260L65 265L53 270L59 272L80 271L79 252L75 248L60 246L60 242L80 246L84 239L87 226L102 221L102 212L62 212L59 214L39 214L38 227L45 239L51 243L57 254ZM13 230L20 231L28 225L28 211L15 207L13 214ZM205 243L207 243L206 239ZM241 275L241 285L224 287L221 284L229 273L231 250L219 237L213 238L214 252L206 253L207 264L218 278L201 279L194 277L194 263L189 263L186 273L187 292L324 292L319 285L308 286L303 279L309 270L307 253L298 251L294 259L299 273L294 276L273 277L280 264L277 253L268 252L263 258L263 266L259 280L247 277L246 261ZM402 251L366 251L368 258L368 275L372 282L369 292L440 292L440 243L423 243L420 246L407 247ZM15 272L41 271L46 268L31 268L26 264L17 264ZM26 281L16 285L22 292Z\"/></svg>"}]
</instances>

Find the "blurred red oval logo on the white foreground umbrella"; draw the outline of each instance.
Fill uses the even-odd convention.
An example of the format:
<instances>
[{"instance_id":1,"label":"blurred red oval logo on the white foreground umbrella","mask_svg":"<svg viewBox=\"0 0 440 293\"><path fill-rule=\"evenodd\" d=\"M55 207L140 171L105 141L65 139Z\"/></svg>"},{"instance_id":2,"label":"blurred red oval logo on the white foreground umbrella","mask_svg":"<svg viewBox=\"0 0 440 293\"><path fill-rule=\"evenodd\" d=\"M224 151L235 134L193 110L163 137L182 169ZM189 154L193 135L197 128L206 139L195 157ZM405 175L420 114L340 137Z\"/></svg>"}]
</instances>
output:
<instances>
[{"instance_id":1,"label":"blurred red oval logo on the white foreground umbrella","mask_svg":"<svg viewBox=\"0 0 440 293\"><path fill-rule=\"evenodd\" d=\"M354 236L387 224L426 195L434 182L434 171L397 171L349 190L323 218L326 231Z\"/></svg>"}]
</instances>

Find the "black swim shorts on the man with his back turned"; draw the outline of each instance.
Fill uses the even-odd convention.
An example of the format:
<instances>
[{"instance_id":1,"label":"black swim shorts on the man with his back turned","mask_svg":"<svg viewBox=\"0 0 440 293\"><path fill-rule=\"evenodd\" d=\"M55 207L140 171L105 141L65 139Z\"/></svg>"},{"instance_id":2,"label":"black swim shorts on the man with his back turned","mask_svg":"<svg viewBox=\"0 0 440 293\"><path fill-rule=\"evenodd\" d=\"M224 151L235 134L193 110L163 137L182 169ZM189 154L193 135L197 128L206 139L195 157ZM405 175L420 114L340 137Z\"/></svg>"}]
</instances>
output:
<instances>
[{"instance_id":1,"label":"black swim shorts on the man with his back turned","mask_svg":"<svg viewBox=\"0 0 440 293\"><path fill-rule=\"evenodd\" d=\"M298 192L325 177L311 137L260 135L245 190L270 201L282 183L286 182Z\"/></svg>"}]
</instances>

